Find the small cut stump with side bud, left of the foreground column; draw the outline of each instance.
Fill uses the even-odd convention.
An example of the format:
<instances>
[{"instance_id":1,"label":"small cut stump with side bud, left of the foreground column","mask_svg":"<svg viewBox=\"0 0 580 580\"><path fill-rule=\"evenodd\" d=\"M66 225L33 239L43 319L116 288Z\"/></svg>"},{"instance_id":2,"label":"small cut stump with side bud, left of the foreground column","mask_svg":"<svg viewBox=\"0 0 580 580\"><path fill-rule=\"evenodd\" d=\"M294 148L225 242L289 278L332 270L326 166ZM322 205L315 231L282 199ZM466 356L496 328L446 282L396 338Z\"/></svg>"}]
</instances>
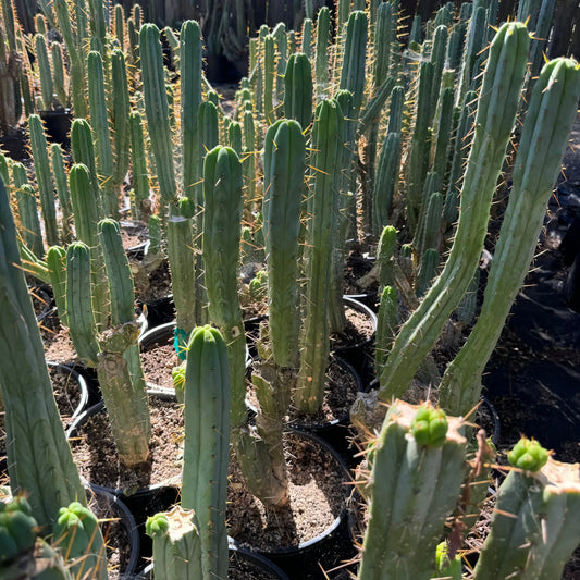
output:
<instances>
[{"instance_id":1,"label":"small cut stump with side bud, left of the foreground column","mask_svg":"<svg viewBox=\"0 0 580 580\"><path fill-rule=\"evenodd\" d=\"M145 530L153 540L156 580L206 579L201 568L199 525L194 511L175 506L171 511L147 518Z\"/></svg>"}]
</instances>

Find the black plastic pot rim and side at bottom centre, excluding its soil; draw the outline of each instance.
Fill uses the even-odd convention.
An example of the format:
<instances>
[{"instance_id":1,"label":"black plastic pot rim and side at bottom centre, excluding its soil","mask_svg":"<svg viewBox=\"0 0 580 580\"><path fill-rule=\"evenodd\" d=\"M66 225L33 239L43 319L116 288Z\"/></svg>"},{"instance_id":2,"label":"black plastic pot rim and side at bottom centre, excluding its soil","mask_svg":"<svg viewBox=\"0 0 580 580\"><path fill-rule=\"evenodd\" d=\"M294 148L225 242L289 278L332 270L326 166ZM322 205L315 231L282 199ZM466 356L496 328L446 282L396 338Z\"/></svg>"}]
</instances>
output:
<instances>
[{"instance_id":1,"label":"black plastic pot rim and side at bottom centre, excluding its soil","mask_svg":"<svg viewBox=\"0 0 580 580\"><path fill-rule=\"evenodd\" d=\"M316 538L303 542L298 545L280 546L274 550L260 550L256 546L240 544L234 540L236 545L249 547L252 552L261 554L275 565L280 566L289 578L300 580L323 580L325 578L322 570L329 571L341 567L345 560L349 560L357 554L354 543L354 518L350 505L353 501L349 496L356 495L351 485L348 468L340 454L328 444L322 437L309 432L293 430L294 434L305 437L316 445L319 445L323 453L328 453L334 458L338 466L344 485L344 505L340 515L332 525ZM292 449L289 449L292 453ZM317 506L312 506L314 509ZM331 576L332 578L332 576Z\"/></svg>"}]
</instances>

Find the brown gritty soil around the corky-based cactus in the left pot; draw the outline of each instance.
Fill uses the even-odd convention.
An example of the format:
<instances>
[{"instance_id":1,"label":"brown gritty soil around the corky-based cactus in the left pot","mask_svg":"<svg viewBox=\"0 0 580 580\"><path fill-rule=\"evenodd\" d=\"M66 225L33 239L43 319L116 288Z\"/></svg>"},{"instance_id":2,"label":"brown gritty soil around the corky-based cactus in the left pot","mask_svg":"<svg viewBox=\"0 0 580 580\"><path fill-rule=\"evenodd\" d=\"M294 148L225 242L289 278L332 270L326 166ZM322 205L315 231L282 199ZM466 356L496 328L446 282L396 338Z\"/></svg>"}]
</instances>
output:
<instances>
[{"instance_id":1,"label":"brown gritty soil around the corky-based cactus in the left pot","mask_svg":"<svg viewBox=\"0 0 580 580\"><path fill-rule=\"evenodd\" d=\"M132 490L176 480L182 472L183 414L169 400L151 397L151 441L149 460L133 469L119 461L109 418L96 414L71 441L73 457L81 476L106 488Z\"/></svg>"}]
</instances>

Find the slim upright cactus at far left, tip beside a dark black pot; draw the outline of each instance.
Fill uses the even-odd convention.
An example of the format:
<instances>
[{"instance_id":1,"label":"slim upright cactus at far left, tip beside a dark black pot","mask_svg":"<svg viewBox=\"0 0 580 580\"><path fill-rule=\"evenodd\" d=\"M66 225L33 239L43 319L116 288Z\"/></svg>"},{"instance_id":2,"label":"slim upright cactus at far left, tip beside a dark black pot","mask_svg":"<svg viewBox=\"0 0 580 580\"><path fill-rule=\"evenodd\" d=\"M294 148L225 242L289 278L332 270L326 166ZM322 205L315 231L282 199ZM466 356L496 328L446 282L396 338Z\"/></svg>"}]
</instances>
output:
<instances>
[{"instance_id":1,"label":"slim upright cactus at far left, tip beside a dark black pot","mask_svg":"<svg viewBox=\"0 0 580 580\"><path fill-rule=\"evenodd\" d=\"M46 240L49 246L53 246L59 243L57 208L54 206L54 189L48 160L47 139L42 122L38 115L32 114L28 118L28 128L30 131L30 147L33 149L38 193L40 194L40 210L45 224Z\"/></svg>"}]
</instances>

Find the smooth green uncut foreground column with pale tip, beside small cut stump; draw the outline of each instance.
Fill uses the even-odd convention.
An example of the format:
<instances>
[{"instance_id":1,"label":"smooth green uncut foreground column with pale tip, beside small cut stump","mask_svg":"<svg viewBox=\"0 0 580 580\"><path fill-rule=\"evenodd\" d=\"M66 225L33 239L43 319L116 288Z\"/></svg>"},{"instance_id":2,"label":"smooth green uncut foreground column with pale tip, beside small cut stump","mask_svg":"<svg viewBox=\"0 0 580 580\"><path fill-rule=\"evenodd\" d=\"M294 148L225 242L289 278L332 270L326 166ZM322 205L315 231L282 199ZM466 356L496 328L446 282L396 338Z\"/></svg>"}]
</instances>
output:
<instances>
[{"instance_id":1,"label":"smooth green uncut foreground column with pale tip, beside small cut stump","mask_svg":"<svg viewBox=\"0 0 580 580\"><path fill-rule=\"evenodd\" d=\"M207 580L227 577L230 397L226 344L217 329L197 328L187 346L185 371L182 506L196 513Z\"/></svg>"}]
</instances>

